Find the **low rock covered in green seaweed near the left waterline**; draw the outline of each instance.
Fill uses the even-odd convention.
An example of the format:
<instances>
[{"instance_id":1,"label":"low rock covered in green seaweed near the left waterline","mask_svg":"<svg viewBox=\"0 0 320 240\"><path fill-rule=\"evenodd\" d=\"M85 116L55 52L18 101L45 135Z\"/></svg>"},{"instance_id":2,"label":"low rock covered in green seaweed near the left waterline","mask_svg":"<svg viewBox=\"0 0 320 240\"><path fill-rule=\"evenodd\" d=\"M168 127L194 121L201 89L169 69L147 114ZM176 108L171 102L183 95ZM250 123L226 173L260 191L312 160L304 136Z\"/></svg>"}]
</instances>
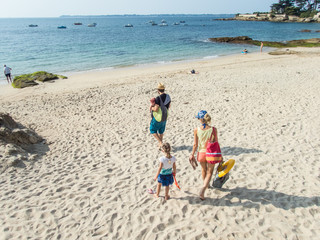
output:
<instances>
[{"instance_id":1,"label":"low rock covered in green seaweed near the left waterline","mask_svg":"<svg viewBox=\"0 0 320 240\"><path fill-rule=\"evenodd\" d=\"M56 75L53 73L48 73L45 71L39 71L14 77L12 86L14 88L25 88L38 85L36 81L46 82L59 78L66 79L67 77L62 75Z\"/></svg>"}]
</instances>

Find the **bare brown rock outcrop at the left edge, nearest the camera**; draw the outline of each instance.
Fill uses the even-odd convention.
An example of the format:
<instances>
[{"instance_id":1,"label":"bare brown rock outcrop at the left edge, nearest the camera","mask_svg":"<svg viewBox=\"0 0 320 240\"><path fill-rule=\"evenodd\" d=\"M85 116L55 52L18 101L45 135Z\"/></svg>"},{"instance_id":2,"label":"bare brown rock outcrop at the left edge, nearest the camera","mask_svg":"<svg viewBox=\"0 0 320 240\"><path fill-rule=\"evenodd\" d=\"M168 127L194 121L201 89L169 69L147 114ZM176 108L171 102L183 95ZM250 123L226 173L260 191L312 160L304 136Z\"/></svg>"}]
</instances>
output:
<instances>
[{"instance_id":1,"label":"bare brown rock outcrop at the left edge, nearest the camera","mask_svg":"<svg viewBox=\"0 0 320 240\"><path fill-rule=\"evenodd\" d=\"M34 160L34 145L41 142L43 138L33 130L18 124L9 114L0 113L0 173Z\"/></svg>"}]
</instances>

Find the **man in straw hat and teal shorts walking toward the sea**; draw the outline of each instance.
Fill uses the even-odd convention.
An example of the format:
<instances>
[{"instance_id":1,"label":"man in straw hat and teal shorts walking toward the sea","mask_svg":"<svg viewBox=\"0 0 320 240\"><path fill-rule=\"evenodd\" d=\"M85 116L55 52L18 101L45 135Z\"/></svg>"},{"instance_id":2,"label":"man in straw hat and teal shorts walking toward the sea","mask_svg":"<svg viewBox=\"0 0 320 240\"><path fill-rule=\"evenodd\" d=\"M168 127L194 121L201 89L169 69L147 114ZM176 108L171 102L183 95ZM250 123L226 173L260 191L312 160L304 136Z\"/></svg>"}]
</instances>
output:
<instances>
[{"instance_id":1,"label":"man in straw hat and teal shorts walking toward the sea","mask_svg":"<svg viewBox=\"0 0 320 240\"><path fill-rule=\"evenodd\" d=\"M162 146L163 134L166 129L168 110L171 104L171 98L164 93L165 86L158 84L157 91L160 96L156 97L155 104L151 106L152 120L150 123L150 133L157 139L158 146Z\"/></svg>"}]
</instances>

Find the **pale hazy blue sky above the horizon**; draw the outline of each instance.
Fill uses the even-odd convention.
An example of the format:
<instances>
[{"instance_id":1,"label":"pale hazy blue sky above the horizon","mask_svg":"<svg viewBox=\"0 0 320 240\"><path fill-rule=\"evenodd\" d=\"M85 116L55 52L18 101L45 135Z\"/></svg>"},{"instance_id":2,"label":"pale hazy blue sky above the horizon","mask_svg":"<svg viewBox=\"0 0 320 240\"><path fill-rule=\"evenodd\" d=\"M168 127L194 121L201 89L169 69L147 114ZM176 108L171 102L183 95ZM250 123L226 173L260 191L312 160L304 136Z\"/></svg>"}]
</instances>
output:
<instances>
[{"instance_id":1,"label":"pale hazy blue sky above the horizon","mask_svg":"<svg viewBox=\"0 0 320 240\"><path fill-rule=\"evenodd\" d=\"M268 12L278 0L7 0L0 17Z\"/></svg>"}]
</instances>

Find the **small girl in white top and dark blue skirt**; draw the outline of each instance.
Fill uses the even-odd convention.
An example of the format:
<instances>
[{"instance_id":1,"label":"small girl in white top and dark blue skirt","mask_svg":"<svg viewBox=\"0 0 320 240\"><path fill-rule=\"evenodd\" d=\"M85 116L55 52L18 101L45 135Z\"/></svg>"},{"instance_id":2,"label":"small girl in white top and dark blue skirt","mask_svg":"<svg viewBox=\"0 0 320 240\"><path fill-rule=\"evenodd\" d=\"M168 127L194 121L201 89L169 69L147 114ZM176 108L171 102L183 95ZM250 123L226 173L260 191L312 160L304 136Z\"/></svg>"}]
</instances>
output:
<instances>
[{"instance_id":1,"label":"small girl in white top and dark blue skirt","mask_svg":"<svg viewBox=\"0 0 320 240\"><path fill-rule=\"evenodd\" d=\"M160 165L157 171L157 175L154 177L154 181L158 180L157 191L154 194L155 197L159 197L161 185L165 187L164 199L168 200L169 185L173 184L173 175L176 174L176 158L170 154L171 147L169 143L164 143L161 147L161 151L165 156L159 159Z\"/></svg>"}]
</instances>

